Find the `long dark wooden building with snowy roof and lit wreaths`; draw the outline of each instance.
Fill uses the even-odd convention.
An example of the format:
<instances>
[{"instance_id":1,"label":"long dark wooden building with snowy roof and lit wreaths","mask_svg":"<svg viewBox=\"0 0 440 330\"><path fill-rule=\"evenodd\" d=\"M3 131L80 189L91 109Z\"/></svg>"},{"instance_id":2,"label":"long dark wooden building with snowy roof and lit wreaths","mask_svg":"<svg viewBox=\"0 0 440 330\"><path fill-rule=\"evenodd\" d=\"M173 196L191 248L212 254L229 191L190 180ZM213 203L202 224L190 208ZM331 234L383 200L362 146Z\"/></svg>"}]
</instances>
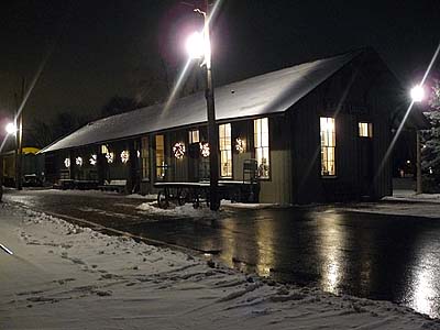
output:
<instances>
[{"instance_id":1,"label":"long dark wooden building with snowy roof and lit wreaths","mask_svg":"<svg viewBox=\"0 0 440 330\"><path fill-rule=\"evenodd\" d=\"M261 202L391 195L384 157L402 102L395 76L369 48L219 87L220 178L245 180L245 161L256 160ZM155 182L207 179L206 112L200 92L90 122L42 151L46 178L142 194Z\"/></svg>"}]
</instances>

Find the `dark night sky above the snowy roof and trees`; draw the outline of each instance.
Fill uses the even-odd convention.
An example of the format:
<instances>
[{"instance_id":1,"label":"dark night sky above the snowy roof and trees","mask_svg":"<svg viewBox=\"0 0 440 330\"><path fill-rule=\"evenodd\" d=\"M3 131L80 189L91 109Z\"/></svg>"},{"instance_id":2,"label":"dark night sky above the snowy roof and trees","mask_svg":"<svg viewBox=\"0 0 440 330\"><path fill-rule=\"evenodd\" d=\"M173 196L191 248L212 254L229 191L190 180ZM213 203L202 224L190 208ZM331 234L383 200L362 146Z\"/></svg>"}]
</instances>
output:
<instances>
[{"instance_id":1,"label":"dark night sky above the snowy roof and trees","mask_svg":"<svg viewBox=\"0 0 440 330\"><path fill-rule=\"evenodd\" d=\"M136 81L161 70L161 57L175 66L185 58L184 34L200 20L182 2L0 4L0 116L13 109L21 78L32 79L55 40L25 122L98 112L114 95L134 97ZM440 42L440 1L222 0L213 30L217 85L369 45L410 86Z\"/></svg>"}]
</instances>

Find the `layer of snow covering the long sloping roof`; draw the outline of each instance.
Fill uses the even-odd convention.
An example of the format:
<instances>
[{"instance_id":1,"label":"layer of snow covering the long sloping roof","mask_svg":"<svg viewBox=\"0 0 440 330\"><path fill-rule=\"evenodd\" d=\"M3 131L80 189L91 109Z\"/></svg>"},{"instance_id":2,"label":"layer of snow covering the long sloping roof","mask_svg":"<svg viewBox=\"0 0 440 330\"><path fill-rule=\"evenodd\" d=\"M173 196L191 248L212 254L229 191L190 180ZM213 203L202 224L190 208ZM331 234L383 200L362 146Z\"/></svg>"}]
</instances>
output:
<instances>
[{"instance_id":1,"label":"layer of snow covering the long sloping roof","mask_svg":"<svg viewBox=\"0 0 440 330\"><path fill-rule=\"evenodd\" d=\"M318 59L218 87L216 118L227 120L286 111L359 54ZM207 122L205 92L198 92L176 100L168 109L163 103L108 117L86 124L41 152L204 123Z\"/></svg>"}]
</instances>

